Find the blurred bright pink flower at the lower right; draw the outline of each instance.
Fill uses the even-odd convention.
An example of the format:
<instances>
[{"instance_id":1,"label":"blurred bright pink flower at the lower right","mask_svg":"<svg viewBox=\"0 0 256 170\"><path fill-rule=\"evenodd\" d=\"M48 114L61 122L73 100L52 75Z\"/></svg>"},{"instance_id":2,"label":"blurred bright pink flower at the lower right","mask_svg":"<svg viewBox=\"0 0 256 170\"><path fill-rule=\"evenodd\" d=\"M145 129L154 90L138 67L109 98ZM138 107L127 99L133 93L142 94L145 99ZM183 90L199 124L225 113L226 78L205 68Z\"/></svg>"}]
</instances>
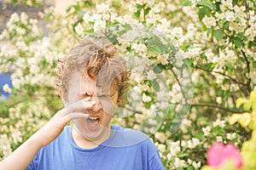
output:
<instances>
[{"instance_id":1,"label":"blurred bright pink flower at the lower right","mask_svg":"<svg viewBox=\"0 0 256 170\"><path fill-rule=\"evenodd\" d=\"M218 167L224 161L232 160L236 167L242 166L240 150L232 143L224 145L222 143L213 143L207 150L207 164L212 167Z\"/></svg>"}]
</instances>

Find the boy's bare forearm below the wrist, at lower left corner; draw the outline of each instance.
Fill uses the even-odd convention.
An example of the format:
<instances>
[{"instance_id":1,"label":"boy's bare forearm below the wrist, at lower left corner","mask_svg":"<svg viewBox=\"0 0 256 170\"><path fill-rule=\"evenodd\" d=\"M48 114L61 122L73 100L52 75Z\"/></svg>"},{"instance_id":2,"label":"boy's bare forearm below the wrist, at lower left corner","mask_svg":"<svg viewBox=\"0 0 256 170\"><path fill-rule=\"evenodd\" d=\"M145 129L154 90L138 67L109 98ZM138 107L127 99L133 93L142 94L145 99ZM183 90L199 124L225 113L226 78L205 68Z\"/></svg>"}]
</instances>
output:
<instances>
[{"instance_id":1,"label":"boy's bare forearm below the wrist, at lower left corner","mask_svg":"<svg viewBox=\"0 0 256 170\"><path fill-rule=\"evenodd\" d=\"M0 161L0 169L16 170L26 169L34 156L38 153L38 150L42 148L40 142L34 135L30 139L27 139L25 143L21 144L13 153L6 157L3 161Z\"/></svg>"}]
</instances>

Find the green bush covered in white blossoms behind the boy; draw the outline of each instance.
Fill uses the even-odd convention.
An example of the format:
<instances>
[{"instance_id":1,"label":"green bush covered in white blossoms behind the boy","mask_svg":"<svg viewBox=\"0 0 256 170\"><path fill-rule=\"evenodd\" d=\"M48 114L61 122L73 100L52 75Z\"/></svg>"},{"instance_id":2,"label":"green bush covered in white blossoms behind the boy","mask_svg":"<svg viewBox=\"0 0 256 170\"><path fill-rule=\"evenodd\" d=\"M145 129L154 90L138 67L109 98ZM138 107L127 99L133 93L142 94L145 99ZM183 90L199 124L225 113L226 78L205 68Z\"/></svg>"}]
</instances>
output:
<instances>
[{"instance_id":1,"label":"green bush covered in white blossoms behind the boy","mask_svg":"<svg viewBox=\"0 0 256 170\"><path fill-rule=\"evenodd\" d=\"M252 108L243 98L256 86L255 9L253 0L77 1L66 16L52 8L41 14L50 23L48 37L36 20L13 14L1 34L8 43L0 50L0 71L13 73L14 87L4 88L13 95L0 110L0 157L61 108L57 57L77 38L100 35L132 71L128 102L113 122L147 133L166 169L201 168L216 141L234 143L256 167L245 151L255 137L248 140L254 118L243 113ZM241 125L227 123L229 116Z\"/></svg>"}]
</instances>

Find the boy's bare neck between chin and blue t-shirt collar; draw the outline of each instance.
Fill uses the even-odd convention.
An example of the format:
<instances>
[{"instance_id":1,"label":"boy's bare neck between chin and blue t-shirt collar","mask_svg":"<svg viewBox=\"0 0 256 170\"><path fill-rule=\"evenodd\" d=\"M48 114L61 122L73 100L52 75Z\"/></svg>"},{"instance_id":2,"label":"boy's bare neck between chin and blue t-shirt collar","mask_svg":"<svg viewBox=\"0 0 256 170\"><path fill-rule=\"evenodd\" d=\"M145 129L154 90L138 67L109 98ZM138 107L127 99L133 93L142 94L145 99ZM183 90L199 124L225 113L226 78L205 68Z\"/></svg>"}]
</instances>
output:
<instances>
[{"instance_id":1,"label":"boy's bare neck between chin and blue t-shirt collar","mask_svg":"<svg viewBox=\"0 0 256 170\"><path fill-rule=\"evenodd\" d=\"M77 130L72 127L71 129L71 136L73 138L73 142L78 145L80 148L84 149L92 149L96 148L99 144L102 144L105 140L107 140L111 135L111 126L105 129L106 132L102 134L99 139L88 139L81 135Z\"/></svg>"}]
</instances>

